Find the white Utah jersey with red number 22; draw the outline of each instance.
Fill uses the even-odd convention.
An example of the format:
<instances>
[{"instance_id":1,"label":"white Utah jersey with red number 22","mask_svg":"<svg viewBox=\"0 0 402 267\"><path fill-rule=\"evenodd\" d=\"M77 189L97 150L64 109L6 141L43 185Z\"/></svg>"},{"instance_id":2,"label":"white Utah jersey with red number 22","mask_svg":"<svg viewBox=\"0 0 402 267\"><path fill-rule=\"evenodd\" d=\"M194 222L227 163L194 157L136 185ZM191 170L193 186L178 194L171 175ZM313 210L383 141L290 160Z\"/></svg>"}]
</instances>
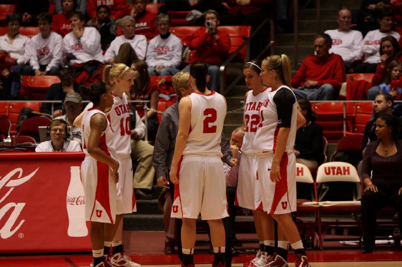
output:
<instances>
[{"instance_id":1,"label":"white Utah jersey with red number 22","mask_svg":"<svg viewBox=\"0 0 402 267\"><path fill-rule=\"evenodd\" d=\"M243 153L252 154L257 152L254 149L253 142L258 125L260 124L260 109L269 92L271 92L271 88L267 87L256 96L253 95L253 90L250 90L247 94L244 106L244 121L246 123L246 129L244 131L243 145L241 149Z\"/></svg>"}]
</instances>

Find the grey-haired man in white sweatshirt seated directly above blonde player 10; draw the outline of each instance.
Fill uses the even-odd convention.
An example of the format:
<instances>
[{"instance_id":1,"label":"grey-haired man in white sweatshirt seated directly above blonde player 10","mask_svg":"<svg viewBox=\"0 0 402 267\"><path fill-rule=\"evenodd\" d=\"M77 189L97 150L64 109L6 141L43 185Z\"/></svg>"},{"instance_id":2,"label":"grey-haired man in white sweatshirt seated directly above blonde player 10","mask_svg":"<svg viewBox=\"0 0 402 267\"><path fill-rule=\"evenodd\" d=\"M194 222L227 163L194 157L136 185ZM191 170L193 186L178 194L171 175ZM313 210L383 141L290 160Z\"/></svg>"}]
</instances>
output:
<instances>
[{"instance_id":1,"label":"grey-haired man in white sweatshirt seated directly above blonde player 10","mask_svg":"<svg viewBox=\"0 0 402 267\"><path fill-rule=\"evenodd\" d=\"M147 52L147 39L143 35L135 34L135 20L133 19L133 17L123 17L120 25L122 27L124 35L118 36L115 40L112 41L110 47L105 53L105 62L108 64L113 64L115 62L115 58L119 55L120 46L125 43L131 45L131 48L133 49L139 60L144 60L145 53ZM119 55L119 58L122 57L124 57L124 55ZM122 62L127 63L125 60L123 60ZM131 62L129 64L131 65Z\"/></svg>"}]
</instances>

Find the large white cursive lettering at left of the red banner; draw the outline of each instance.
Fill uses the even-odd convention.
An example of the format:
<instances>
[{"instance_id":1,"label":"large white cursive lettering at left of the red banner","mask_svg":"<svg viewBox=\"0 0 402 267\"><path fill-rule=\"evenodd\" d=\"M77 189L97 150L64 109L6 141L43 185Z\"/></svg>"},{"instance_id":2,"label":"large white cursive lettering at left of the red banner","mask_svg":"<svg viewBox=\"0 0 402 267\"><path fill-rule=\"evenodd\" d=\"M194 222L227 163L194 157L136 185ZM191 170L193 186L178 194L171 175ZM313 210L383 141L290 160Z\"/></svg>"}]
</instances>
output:
<instances>
[{"instance_id":1,"label":"large white cursive lettering at left of the red banner","mask_svg":"<svg viewBox=\"0 0 402 267\"><path fill-rule=\"evenodd\" d=\"M9 188L6 194L0 196L0 204L2 204L6 200L6 198L13 192L13 190L17 186L29 181L29 179L31 179L38 170L39 167L29 175L22 177L23 169L16 168L6 174L3 178L0 176L0 190L3 187ZM18 177L15 177L16 175L18 175ZM18 229L20 229L22 224L25 222L25 219L21 219L19 222L17 222L17 220L25 204L26 203L9 202L0 207L0 221L2 221L5 214L9 214L9 211L12 210L10 217L7 219L6 223L3 226L0 225L0 237L2 237L3 239L7 239L12 236Z\"/></svg>"}]
</instances>

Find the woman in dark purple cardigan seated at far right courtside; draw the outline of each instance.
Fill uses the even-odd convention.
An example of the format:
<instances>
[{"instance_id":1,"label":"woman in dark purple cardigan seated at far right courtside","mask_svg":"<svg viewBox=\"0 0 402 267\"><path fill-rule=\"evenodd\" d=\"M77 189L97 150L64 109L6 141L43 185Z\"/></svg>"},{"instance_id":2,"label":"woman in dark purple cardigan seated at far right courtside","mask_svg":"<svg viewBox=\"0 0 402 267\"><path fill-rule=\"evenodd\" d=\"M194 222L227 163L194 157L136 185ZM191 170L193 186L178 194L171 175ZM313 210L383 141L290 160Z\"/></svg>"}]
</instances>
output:
<instances>
[{"instance_id":1,"label":"woman in dark purple cardigan seated at far right courtside","mask_svg":"<svg viewBox=\"0 0 402 267\"><path fill-rule=\"evenodd\" d=\"M376 213L383 207L392 205L396 208L402 229L402 140L399 139L398 121L392 115L384 114L375 124L378 140L367 145L361 170L365 185L361 199L363 253L371 253L374 248Z\"/></svg>"}]
</instances>

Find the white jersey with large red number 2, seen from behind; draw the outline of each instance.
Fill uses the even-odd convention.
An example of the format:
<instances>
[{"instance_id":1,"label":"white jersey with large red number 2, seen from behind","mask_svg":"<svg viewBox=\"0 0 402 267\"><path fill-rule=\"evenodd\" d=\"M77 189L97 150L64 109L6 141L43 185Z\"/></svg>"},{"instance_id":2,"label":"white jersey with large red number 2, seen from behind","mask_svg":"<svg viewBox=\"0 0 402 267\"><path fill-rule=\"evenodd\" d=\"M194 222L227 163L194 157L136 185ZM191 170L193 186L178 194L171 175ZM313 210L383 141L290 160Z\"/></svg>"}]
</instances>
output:
<instances>
[{"instance_id":1,"label":"white jersey with large red number 2, seen from behind","mask_svg":"<svg viewBox=\"0 0 402 267\"><path fill-rule=\"evenodd\" d=\"M217 155L222 157L221 135L226 116L226 103L222 95L213 91L206 95L192 93L191 125L183 155Z\"/></svg>"}]
</instances>

